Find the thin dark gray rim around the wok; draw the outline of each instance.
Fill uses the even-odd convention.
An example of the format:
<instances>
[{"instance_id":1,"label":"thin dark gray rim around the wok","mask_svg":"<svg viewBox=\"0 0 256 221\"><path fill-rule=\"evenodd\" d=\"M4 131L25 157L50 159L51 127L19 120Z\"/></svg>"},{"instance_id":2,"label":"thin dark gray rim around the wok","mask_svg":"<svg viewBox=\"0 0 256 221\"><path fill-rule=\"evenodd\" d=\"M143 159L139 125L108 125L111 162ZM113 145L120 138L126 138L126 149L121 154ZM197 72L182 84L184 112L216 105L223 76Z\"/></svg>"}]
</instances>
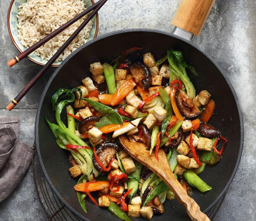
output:
<instances>
[{"instance_id":1,"label":"thin dark gray rim around the wok","mask_svg":"<svg viewBox=\"0 0 256 221\"><path fill-rule=\"evenodd\" d=\"M240 131L241 131L241 136L240 136L240 148L239 148L239 152L238 152L238 158L237 158L237 162L236 165L234 167L234 170L230 176L230 179L227 182L226 187L222 190L221 194L219 194L219 196L216 198L216 200L210 204L204 211L202 211L203 213L208 212L224 195L224 193L227 191L227 189L229 188L230 184L232 183L234 176L236 175L240 160L241 160L241 156L242 156L242 150L243 150L243 143L244 143L244 125L243 125L243 116L242 116L242 112L241 112L241 108L239 105L239 101L238 101L238 97L236 94L236 91L234 90L231 82L229 81L229 79L227 78L226 73L223 71L223 69L213 61L213 59L207 54L205 53L203 50L201 50L199 47L197 47L195 44L193 44L192 42L179 37L175 34L166 32L166 31L159 31L159 30L155 30L155 29L124 29L124 30L119 30L119 31L114 31L114 32L110 32L104 35L101 35L100 37L94 38L92 40L90 40L89 42L87 42L86 44L82 45L80 48L76 49L74 52L72 52L60 65L59 67L57 67L57 69L53 72L53 74L51 75L51 77L49 78L47 84L45 85L45 88L42 92L42 95L40 97L39 100L39 106L38 106L38 110L37 110L37 115L36 115L36 119L35 119L35 145L37 147L37 156L39 159L39 164L41 166L41 169L43 171L43 174L49 184L49 186L51 187L51 189L54 191L54 193L57 195L57 197L59 198L59 200L71 211L73 212L73 214L75 214L76 216L78 216L79 218L81 218L82 220L88 220L89 219L85 218L84 216L82 216L79 212L77 212L75 209L72 208L72 206L70 206L59 194L59 192L57 191L57 189L54 187L54 185L52 184L51 180L49 179L49 176L45 170L44 164L43 164L43 160L41 158L41 153L40 153L40 149L39 149L39 135L38 135L38 125L39 125L39 117L40 117L40 112L41 112L41 107L42 107L42 103L44 100L44 97L46 95L46 92L48 91L48 88L50 86L50 84L52 83L53 79L55 78L55 76L57 75L57 73L59 72L59 70L62 68L62 66L64 66L71 57L73 57L76 53L80 52L82 49L84 49L85 47L87 47L90 44L95 43L96 41L103 39L105 37L109 37L112 35L116 35L116 34L120 34L120 33L127 33L127 32L154 32L154 33L158 33L158 34L165 34L177 39L180 39L182 41L184 41L185 43L188 43L189 45L193 46L194 48L196 48L197 50L199 50L203 55L205 55L216 67L217 69L221 72L221 74L223 75L223 77L225 78L226 82L228 83L228 86L234 96L234 99L236 101L236 105L238 108L238 114L239 114L239 120L240 120Z\"/></svg>"}]
</instances>

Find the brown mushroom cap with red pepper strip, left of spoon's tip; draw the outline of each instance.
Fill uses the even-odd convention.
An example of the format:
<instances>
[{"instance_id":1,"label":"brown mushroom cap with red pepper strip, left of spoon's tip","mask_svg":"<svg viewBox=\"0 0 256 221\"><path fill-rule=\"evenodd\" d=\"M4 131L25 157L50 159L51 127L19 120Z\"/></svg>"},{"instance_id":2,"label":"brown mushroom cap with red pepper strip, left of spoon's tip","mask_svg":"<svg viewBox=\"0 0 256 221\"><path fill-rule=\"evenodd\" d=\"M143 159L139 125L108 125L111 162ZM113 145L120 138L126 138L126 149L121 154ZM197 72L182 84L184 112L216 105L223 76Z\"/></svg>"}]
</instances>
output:
<instances>
[{"instance_id":1,"label":"brown mushroom cap with red pepper strip, left of spoon's tip","mask_svg":"<svg viewBox=\"0 0 256 221\"><path fill-rule=\"evenodd\" d=\"M104 167L106 167L108 165L107 159L108 158L112 159L115 156L117 148L118 148L118 146L116 143L107 141L107 142L101 143L99 148L96 150L96 154L97 154L99 160L104 165ZM94 155L93 155L93 165L98 172L101 171L102 168L97 163Z\"/></svg>"}]
</instances>

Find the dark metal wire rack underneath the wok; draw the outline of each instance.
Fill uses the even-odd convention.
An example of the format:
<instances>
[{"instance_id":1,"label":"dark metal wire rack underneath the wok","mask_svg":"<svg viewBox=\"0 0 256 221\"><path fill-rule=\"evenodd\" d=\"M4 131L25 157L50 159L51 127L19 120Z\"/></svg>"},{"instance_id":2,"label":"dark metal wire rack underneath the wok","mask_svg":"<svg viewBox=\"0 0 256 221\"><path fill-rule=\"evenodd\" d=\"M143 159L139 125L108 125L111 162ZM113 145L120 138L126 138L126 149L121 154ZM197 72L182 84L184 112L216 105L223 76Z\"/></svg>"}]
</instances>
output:
<instances>
[{"instance_id":1,"label":"dark metal wire rack underneath the wok","mask_svg":"<svg viewBox=\"0 0 256 221\"><path fill-rule=\"evenodd\" d=\"M34 155L36 149L35 146L33 149L33 159L32 159L32 170L35 183L35 189L37 191L39 202L48 218L48 220L56 221L81 221L80 218L75 216L68 208L66 208L57 198L55 193L50 188L47 183L44 174L41 170L41 167L38 162L37 155ZM221 207L226 193L223 197L209 210L206 214L213 220L217 214L219 208Z\"/></svg>"}]
</instances>

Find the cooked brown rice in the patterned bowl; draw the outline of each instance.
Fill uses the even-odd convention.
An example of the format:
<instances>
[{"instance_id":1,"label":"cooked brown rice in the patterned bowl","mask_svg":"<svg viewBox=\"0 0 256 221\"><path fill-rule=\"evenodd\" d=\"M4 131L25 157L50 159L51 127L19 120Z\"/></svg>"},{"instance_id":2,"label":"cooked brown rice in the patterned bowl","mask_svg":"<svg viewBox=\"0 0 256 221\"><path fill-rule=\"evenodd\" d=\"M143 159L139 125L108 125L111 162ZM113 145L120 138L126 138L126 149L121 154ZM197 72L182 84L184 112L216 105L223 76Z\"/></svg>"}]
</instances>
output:
<instances>
[{"instance_id":1,"label":"cooked brown rice in the patterned bowl","mask_svg":"<svg viewBox=\"0 0 256 221\"><path fill-rule=\"evenodd\" d=\"M85 3L83 0L28 0L19 6L19 12L17 14L18 38L22 45L27 48L31 47L84 10ZM49 60L85 18L75 22L49 40L35 50L34 54L40 56L42 59ZM87 42L93 22L93 19L88 22L85 28L58 57L56 62L64 60L71 52Z\"/></svg>"}]
</instances>

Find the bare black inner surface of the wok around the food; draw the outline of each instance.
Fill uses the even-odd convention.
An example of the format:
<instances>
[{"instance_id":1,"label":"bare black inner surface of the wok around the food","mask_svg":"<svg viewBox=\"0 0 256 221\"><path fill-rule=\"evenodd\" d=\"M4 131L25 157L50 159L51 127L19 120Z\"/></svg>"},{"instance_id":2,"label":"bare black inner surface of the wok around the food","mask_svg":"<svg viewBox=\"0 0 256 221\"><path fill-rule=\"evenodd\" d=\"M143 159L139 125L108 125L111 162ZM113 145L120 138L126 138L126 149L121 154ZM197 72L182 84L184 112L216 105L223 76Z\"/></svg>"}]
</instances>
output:
<instances>
[{"instance_id":1,"label":"bare black inner surface of the wok around the food","mask_svg":"<svg viewBox=\"0 0 256 221\"><path fill-rule=\"evenodd\" d=\"M64 62L65 64L55 71L55 78L49 88L46 88L45 96L43 94L41 98L41 110L39 107L38 113L38 154L41 155L45 172L61 198L82 216L89 220L117 219L106 211L107 209L95 206L88 198L86 201L87 214L82 210L73 189L77 179L73 179L68 171L71 167L68 162L69 152L58 147L56 139L45 123L44 117L46 116L51 122L55 122L55 112L50 108L50 100L57 89L61 87L74 88L80 85L81 80L90 74L90 63L95 61L111 62L120 52L131 47L141 47L140 55L151 52L156 61L165 56L169 48L182 50L185 61L191 63L199 72L199 76L196 77L188 71L197 94L206 89L216 103L214 115L209 123L218 128L223 136L227 137L228 143L224 149L223 159L214 166L207 165L203 173L199 175L202 180L212 187L212 190L201 193L193 188L191 197L198 203L201 211L205 211L226 187L238 159L241 137L238 108L228 83L209 58L188 43L163 33L135 31L107 36L89 44L87 47L82 47L81 50L77 50L73 56L71 55L68 58L67 63ZM66 117L64 112L62 113L63 120ZM152 220L159 218L162 220L169 218L188 220L185 209L177 200L166 200L164 208L165 213L161 217L154 216Z\"/></svg>"}]
</instances>

